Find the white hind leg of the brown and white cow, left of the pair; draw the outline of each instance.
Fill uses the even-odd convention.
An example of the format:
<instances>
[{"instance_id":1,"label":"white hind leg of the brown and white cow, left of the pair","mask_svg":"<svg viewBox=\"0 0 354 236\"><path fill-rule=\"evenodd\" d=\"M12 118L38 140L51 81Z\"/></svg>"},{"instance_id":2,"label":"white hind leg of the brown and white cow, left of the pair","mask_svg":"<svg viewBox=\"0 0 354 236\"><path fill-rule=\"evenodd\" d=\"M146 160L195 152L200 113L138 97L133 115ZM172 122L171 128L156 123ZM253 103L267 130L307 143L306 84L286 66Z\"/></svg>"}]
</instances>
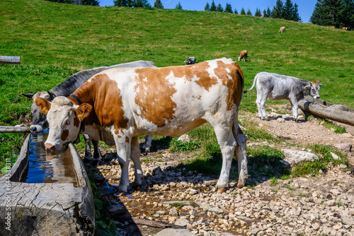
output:
<instances>
[{"instance_id":1,"label":"white hind leg of the brown and white cow, left of the pair","mask_svg":"<svg viewBox=\"0 0 354 236\"><path fill-rule=\"evenodd\" d=\"M227 129L222 125L213 125L215 134L217 136L217 142L219 143L222 151L222 170L220 177L217 180L218 192L226 191L229 183L230 169L232 164L232 157L236 148L236 139L234 137L232 129Z\"/></svg>"}]
</instances>

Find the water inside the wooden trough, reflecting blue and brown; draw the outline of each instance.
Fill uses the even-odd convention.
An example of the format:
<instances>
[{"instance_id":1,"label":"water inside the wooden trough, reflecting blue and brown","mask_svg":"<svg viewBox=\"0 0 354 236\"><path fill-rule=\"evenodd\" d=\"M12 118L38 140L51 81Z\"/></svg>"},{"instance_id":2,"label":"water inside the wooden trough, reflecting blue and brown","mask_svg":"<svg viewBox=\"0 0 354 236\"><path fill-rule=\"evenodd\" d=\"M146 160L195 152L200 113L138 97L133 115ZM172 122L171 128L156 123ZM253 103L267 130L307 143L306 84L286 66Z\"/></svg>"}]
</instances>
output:
<instances>
[{"instance_id":1,"label":"water inside the wooden trough, reflecting blue and brown","mask_svg":"<svg viewBox=\"0 0 354 236\"><path fill-rule=\"evenodd\" d=\"M69 148L53 153L45 150L48 131L30 135L28 168L20 182L25 183L71 183L78 186L76 172Z\"/></svg>"}]
</instances>

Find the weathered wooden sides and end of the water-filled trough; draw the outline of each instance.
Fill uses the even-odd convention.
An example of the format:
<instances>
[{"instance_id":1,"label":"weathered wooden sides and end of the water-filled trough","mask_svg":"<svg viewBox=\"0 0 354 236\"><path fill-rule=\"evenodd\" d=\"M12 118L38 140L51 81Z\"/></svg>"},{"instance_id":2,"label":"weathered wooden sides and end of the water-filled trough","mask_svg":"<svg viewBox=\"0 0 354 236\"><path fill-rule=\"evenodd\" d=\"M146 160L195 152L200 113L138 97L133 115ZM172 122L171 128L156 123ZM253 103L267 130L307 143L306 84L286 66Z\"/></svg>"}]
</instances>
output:
<instances>
[{"instance_id":1,"label":"weathered wooden sides and end of the water-filled trough","mask_svg":"<svg viewBox=\"0 0 354 236\"><path fill-rule=\"evenodd\" d=\"M93 235L93 194L74 145L69 143L69 152L77 186L20 182L28 168L29 143L30 135L16 163L0 179L0 235Z\"/></svg>"}]
</instances>

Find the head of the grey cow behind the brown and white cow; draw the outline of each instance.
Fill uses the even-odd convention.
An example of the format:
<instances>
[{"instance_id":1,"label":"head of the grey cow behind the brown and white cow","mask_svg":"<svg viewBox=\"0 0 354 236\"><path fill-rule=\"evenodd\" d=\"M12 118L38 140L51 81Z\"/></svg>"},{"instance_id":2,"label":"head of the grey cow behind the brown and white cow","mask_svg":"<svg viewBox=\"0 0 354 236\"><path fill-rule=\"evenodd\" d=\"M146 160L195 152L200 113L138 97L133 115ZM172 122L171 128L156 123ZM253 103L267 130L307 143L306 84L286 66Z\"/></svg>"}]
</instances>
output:
<instances>
[{"instance_id":1,"label":"head of the grey cow behind the brown and white cow","mask_svg":"<svg viewBox=\"0 0 354 236\"><path fill-rule=\"evenodd\" d=\"M33 94L22 94L26 98L31 98L33 101L35 101L36 98L44 98L47 101L52 101L55 98L55 95L53 93L50 93L49 91L39 91L37 93ZM42 112L38 109L38 107L35 105L35 102L33 102L32 106L30 107L30 111L32 112L32 124L30 125L30 131L31 132L42 132L44 129L48 128L48 122L47 122L47 117L42 114Z\"/></svg>"}]
</instances>

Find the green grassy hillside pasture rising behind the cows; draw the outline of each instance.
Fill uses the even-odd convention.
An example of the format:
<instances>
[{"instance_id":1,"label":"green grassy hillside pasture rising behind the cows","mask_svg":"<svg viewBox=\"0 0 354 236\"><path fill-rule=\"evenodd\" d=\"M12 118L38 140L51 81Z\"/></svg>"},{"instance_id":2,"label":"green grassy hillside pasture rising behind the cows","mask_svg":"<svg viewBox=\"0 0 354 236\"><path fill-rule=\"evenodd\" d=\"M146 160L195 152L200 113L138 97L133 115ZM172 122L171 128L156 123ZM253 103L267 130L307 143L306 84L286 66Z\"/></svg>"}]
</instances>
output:
<instances>
[{"instance_id":1,"label":"green grassy hillside pasture rising behind the cows","mask_svg":"<svg viewBox=\"0 0 354 236\"><path fill-rule=\"evenodd\" d=\"M0 55L21 57L21 65L0 64L0 125L30 119L31 101L21 93L50 90L82 69L140 59L183 65L191 56L236 60L244 49L249 61L239 64L246 89L258 72L280 73L319 80L322 99L354 108L353 31L229 13L39 0L6 0L0 13ZM285 33L278 33L281 26ZM256 112L255 100L255 90L247 93L241 111ZM1 148L12 138L1 135Z\"/></svg>"}]
</instances>

